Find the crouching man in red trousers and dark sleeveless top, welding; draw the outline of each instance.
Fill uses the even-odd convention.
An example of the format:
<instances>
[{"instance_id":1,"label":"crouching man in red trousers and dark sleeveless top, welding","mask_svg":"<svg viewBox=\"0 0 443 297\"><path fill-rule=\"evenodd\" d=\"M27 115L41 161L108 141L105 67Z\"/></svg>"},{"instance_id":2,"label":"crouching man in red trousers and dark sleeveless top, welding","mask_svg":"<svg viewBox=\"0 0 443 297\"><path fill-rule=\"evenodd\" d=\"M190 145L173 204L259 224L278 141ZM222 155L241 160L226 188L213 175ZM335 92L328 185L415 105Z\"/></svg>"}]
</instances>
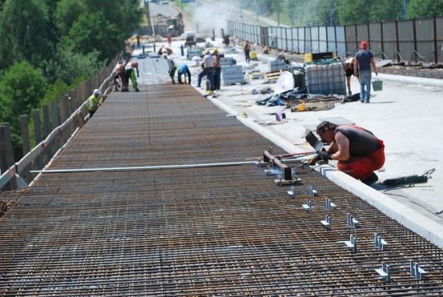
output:
<instances>
[{"instance_id":1,"label":"crouching man in red trousers and dark sleeveless top, welding","mask_svg":"<svg viewBox=\"0 0 443 297\"><path fill-rule=\"evenodd\" d=\"M337 125L321 122L317 134L329 146L308 160L313 165L318 160L337 160L337 169L364 184L379 180L374 171L385 163L385 146L372 132L354 125Z\"/></svg>"}]
</instances>

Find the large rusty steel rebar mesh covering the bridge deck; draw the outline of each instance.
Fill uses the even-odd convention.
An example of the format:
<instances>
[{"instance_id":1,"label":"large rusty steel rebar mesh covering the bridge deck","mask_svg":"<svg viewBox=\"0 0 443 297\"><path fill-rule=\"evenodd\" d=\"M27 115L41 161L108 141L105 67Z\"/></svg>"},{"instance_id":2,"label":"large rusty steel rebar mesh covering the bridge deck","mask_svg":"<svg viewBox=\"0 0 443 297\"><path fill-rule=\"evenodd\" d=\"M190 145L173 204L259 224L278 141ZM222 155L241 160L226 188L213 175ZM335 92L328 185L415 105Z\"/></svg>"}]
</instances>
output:
<instances>
[{"instance_id":1,"label":"large rusty steel rebar mesh covering the bridge deck","mask_svg":"<svg viewBox=\"0 0 443 297\"><path fill-rule=\"evenodd\" d=\"M442 249L300 163L294 195L255 164L174 167L269 146L190 86L113 93L48 169L172 167L43 173L14 193L0 296L443 294Z\"/></svg>"}]
</instances>

